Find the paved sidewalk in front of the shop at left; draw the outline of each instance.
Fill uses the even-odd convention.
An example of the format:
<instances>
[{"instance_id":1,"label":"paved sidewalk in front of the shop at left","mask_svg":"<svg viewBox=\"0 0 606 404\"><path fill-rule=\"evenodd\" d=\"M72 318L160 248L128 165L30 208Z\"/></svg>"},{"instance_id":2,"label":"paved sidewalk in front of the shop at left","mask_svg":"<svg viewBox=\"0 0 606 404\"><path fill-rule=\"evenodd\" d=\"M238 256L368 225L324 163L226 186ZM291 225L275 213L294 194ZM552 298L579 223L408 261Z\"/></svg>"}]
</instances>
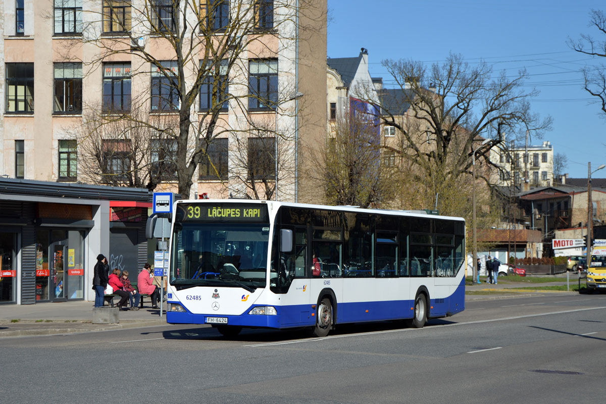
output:
<instances>
[{"instance_id":1,"label":"paved sidewalk in front of the shop at left","mask_svg":"<svg viewBox=\"0 0 606 404\"><path fill-rule=\"evenodd\" d=\"M93 324L93 302L0 306L0 338L53 335L166 324L166 313L150 307L120 311L118 324ZM166 307L164 307L164 310Z\"/></svg>"}]
</instances>

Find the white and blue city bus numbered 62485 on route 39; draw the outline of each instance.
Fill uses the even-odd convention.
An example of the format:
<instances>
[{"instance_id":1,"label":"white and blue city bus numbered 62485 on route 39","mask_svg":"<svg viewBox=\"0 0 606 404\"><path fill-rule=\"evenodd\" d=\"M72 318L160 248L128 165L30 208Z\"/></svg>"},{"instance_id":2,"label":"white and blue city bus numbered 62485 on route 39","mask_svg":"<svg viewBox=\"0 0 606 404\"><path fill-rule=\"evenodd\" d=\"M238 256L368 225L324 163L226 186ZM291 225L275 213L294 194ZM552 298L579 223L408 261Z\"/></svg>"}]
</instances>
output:
<instances>
[{"instance_id":1,"label":"white and blue city bus numbered 62485 on route 39","mask_svg":"<svg viewBox=\"0 0 606 404\"><path fill-rule=\"evenodd\" d=\"M264 200L178 200L167 322L309 328L459 313L465 221Z\"/></svg>"}]
</instances>

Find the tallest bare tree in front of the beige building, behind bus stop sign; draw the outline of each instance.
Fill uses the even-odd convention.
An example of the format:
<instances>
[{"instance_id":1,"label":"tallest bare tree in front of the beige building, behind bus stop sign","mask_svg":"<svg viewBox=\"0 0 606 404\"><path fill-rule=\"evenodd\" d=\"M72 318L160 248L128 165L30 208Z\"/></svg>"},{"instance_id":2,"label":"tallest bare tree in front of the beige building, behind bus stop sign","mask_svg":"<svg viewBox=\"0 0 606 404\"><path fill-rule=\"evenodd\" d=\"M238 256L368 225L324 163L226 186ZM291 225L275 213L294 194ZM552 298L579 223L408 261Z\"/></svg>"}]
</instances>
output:
<instances>
[{"instance_id":1,"label":"tallest bare tree in front of the beige building, behind bus stop sign","mask_svg":"<svg viewBox=\"0 0 606 404\"><path fill-rule=\"evenodd\" d=\"M147 112L171 114L175 124L167 130L155 120L133 113L130 101L107 94L102 111L130 121L128 127L147 128L150 133L174 139L171 164L176 167L179 193L188 196L208 145L218 137L246 136L258 130L248 110L271 112L293 93L293 80L277 82L278 70L285 78L293 73L288 58L281 59L287 61L283 66L277 65L275 48L279 43L278 52L286 55L288 48L295 46L295 38L302 32L298 13L314 1L299 0L298 6L289 0L89 3L93 7L84 15L82 38L65 39L58 53L65 61L82 62L87 75L103 67L104 86L113 85L112 63L130 61L120 68L128 70L132 105L141 105ZM315 26L321 19L306 21ZM255 71L272 73L275 82L270 75L255 76L253 82L249 59L256 59ZM200 104L196 105L198 99ZM90 108L87 105L84 110ZM234 122L227 120L227 108L238 115ZM113 119L107 121L98 122L111 125Z\"/></svg>"}]
</instances>

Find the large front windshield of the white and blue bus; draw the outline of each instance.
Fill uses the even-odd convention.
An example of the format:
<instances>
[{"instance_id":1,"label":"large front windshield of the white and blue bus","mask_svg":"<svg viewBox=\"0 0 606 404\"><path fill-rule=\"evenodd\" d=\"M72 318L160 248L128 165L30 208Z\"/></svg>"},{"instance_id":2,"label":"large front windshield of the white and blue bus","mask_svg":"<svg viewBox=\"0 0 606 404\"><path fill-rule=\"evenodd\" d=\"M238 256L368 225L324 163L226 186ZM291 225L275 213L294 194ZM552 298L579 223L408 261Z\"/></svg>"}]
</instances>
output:
<instances>
[{"instance_id":1,"label":"large front windshield of the white and blue bus","mask_svg":"<svg viewBox=\"0 0 606 404\"><path fill-rule=\"evenodd\" d=\"M264 288L268 240L269 224L176 223L170 283Z\"/></svg>"}]
</instances>

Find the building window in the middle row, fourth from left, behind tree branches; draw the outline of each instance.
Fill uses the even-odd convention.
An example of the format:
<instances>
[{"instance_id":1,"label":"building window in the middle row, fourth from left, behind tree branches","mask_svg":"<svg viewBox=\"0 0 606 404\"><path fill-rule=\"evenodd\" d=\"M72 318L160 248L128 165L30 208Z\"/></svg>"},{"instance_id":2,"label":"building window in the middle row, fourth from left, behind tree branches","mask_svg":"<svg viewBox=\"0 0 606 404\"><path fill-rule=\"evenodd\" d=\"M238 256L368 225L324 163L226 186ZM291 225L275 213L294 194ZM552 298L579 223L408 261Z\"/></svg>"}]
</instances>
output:
<instances>
[{"instance_id":1,"label":"building window in the middle row, fourth from left, behind tree branches","mask_svg":"<svg viewBox=\"0 0 606 404\"><path fill-rule=\"evenodd\" d=\"M179 109L177 62L160 62L162 68L153 64L151 70L151 111L175 111Z\"/></svg>"}]
</instances>

